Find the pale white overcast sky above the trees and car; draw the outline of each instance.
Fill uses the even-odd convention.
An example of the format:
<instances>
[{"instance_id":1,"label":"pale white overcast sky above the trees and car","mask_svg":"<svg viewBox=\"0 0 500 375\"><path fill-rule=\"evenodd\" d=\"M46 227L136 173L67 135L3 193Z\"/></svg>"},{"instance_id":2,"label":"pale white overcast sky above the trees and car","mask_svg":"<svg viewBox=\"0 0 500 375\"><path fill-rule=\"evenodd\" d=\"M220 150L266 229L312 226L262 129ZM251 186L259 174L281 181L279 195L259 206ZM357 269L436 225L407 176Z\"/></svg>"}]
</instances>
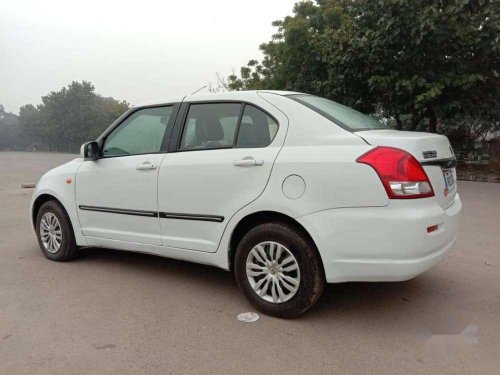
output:
<instances>
[{"instance_id":1,"label":"pale white overcast sky above the trees and car","mask_svg":"<svg viewBox=\"0 0 500 375\"><path fill-rule=\"evenodd\" d=\"M9 112L71 81L132 104L231 74L296 0L0 0L0 103Z\"/></svg>"}]
</instances>

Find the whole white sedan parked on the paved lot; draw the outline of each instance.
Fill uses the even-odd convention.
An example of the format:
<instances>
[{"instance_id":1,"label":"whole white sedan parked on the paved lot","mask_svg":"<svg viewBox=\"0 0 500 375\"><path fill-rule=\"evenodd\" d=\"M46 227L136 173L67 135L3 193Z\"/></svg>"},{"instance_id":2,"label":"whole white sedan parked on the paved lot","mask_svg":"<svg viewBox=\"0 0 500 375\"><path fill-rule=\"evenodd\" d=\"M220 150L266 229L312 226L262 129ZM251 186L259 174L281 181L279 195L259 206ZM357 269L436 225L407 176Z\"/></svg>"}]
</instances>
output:
<instances>
[{"instance_id":1,"label":"whole white sedan parked on the paved lot","mask_svg":"<svg viewBox=\"0 0 500 375\"><path fill-rule=\"evenodd\" d=\"M411 279L457 238L448 139L387 129L317 96L158 100L81 153L33 194L47 258L93 246L233 270L248 300L274 316L303 313L327 282Z\"/></svg>"}]
</instances>

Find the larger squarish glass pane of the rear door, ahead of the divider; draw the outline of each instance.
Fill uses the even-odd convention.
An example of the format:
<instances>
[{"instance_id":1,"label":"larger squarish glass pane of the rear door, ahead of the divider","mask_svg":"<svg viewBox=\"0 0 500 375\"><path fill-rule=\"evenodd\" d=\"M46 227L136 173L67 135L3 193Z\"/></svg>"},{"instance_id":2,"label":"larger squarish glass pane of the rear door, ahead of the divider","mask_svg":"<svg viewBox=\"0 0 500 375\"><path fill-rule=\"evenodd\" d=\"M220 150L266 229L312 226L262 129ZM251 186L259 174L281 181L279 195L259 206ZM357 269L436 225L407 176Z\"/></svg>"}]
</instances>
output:
<instances>
[{"instance_id":1,"label":"larger squarish glass pane of the rear door, ahead of the divider","mask_svg":"<svg viewBox=\"0 0 500 375\"><path fill-rule=\"evenodd\" d=\"M180 150L233 147L240 109L240 103L191 104Z\"/></svg>"}]
</instances>

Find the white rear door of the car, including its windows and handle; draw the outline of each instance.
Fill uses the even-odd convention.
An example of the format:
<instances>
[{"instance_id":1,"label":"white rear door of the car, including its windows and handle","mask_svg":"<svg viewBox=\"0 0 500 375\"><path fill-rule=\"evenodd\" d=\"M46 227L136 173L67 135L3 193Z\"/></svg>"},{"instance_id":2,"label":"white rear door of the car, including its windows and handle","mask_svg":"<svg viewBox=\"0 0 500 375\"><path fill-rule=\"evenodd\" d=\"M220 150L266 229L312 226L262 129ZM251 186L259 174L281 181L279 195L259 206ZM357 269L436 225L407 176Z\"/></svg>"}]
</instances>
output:
<instances>
[{"instance_id":1,"label":"white rear door of the car, including its windows and handle","mask_svg":"<svg viewBox=\"0 0 500 375\"><path fill-rule=\"evenodd\" d=\"M158 178L163 245L215 252L230 218L263 192L287 126L264 100L184 103Z\"/></svg>"}]
</instances>

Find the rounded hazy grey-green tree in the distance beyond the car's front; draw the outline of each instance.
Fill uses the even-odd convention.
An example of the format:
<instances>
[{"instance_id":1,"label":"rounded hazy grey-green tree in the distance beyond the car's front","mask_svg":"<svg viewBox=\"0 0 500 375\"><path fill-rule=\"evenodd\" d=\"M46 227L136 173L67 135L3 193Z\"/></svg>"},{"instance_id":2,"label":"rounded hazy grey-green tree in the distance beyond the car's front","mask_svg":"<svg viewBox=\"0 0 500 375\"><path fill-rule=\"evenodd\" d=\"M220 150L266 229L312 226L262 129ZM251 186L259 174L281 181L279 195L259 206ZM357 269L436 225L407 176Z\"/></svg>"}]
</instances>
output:
<instances>
[{"instance_id":1,"label":"rounded hazy grey-green tree in the distance beyond the car's front","mask_svg":"<svg viewBox=\"0 0 500 375\"><path fill-rule=\"evenodd\" d=\"M125 101L96 94L90 82L72 82L42 97L42 104L20 108L22 147L76 152L128 108Z\"/></svg>"}]
</instances>

